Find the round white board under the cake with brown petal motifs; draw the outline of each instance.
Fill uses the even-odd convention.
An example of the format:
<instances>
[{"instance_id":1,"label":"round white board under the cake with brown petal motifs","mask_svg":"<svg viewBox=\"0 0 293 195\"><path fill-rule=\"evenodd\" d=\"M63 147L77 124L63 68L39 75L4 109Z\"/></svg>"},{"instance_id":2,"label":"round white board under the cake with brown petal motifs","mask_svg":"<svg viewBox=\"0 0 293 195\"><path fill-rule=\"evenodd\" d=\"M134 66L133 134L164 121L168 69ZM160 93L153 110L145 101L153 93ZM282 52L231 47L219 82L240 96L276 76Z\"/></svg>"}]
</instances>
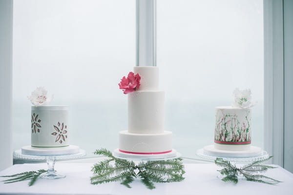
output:
<instances>
[{"instance_id":1,"label":"round white board under the cake with brown petal motifs","mask_svg":"<svg viewBox=\"0 0 293 195\"><path fill-rule=\"evenodd\" d=\"M69 145L61 148L35 148L31 146L23 146L21 148L22 155L32 156L60 156L78 154L80 148L75 145Z\"/></svg>"}]
</instances>

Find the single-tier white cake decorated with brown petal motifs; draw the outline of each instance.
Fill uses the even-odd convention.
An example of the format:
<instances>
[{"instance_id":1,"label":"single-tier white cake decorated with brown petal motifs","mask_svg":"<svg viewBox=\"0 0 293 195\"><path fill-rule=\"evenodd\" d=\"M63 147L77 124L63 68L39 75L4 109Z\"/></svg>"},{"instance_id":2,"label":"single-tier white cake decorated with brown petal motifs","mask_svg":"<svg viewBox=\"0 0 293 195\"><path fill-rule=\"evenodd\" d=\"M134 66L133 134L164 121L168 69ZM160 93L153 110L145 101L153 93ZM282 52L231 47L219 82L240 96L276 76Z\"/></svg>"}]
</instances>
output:
<instances>
[{"instance_id":1,"label":"single-tier white cake decorated with brown petal motifs","mask_svg":"<svg viewBox=\"0 0 293 195\"><path fill-rule=\"evenodd\" d=\"M32 106L31 146L49 148L68 145L67 106Z\"/></svg>"}]
</instances>

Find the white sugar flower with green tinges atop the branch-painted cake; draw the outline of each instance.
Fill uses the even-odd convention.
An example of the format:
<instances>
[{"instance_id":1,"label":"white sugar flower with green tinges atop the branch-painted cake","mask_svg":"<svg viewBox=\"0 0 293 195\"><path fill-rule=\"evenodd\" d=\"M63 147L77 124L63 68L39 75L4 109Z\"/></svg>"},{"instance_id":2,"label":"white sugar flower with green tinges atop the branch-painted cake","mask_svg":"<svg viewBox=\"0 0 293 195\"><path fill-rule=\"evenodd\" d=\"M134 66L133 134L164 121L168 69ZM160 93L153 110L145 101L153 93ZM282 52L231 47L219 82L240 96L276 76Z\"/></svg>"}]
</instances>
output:
<instances>
[{"instance_id":1,"label":"white sugar flower with green tinges atop the branch-painted cake","mask_svg":"<svg viewBox=\"0 0 293 195\"><path fill-rule=\"evenodd\" d=\"M233 107L240 107L240 108L251 108L255 105L255 103L251 102L251 90L239 90L236 88L233 91L234 102Z\"/></svg>"}]
</instances>

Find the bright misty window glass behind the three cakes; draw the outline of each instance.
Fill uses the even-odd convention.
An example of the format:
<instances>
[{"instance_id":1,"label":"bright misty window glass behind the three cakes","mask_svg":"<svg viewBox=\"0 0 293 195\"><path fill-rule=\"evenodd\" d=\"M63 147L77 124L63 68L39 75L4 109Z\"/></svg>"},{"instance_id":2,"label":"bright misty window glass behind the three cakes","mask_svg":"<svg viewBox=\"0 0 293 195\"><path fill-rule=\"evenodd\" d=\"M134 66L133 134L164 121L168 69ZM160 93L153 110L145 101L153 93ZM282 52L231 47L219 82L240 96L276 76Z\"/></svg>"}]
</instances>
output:
<instances>
[{"instance_id":1,"label":"bright misty window glass behind the three cakes","mask_svg":"<svg viewBox=\"0 0 293 195\"><path fill-rule=\"evenodd\" d=\"M91 155L118 147L127 97L118 82L135 66L134 0L15 0L13 147L30 144L37 86L68 105L70 142ZM263 1L158 0L157 66L166 130L185 157L213 143L214 107L251 88L252 144L263 147Z\"/></svg>"}]
</instances>

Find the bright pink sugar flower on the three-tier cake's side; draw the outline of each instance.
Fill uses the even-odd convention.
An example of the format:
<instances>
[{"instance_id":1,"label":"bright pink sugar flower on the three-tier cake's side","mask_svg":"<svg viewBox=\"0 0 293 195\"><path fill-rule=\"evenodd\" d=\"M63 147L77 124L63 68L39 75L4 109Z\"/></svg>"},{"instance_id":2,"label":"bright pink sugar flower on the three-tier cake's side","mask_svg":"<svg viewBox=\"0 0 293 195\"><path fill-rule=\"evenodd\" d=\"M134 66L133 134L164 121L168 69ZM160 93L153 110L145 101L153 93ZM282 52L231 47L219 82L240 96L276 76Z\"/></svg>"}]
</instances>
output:
<instances>
[{"instance_id":1,"label":"bright pink sugar flower on the three-tier cake's side","mask_svg":"<svg viewBox=\"0 0 293 195\"><path fill-rule=\"evenodd\" d=\"M127 78L123 77L118 85L120 89L123 89L124 94L129 94L139 88L140 76L139 74L134 75L133 72L129 72Z\"/></svg>"}]
</instances>

